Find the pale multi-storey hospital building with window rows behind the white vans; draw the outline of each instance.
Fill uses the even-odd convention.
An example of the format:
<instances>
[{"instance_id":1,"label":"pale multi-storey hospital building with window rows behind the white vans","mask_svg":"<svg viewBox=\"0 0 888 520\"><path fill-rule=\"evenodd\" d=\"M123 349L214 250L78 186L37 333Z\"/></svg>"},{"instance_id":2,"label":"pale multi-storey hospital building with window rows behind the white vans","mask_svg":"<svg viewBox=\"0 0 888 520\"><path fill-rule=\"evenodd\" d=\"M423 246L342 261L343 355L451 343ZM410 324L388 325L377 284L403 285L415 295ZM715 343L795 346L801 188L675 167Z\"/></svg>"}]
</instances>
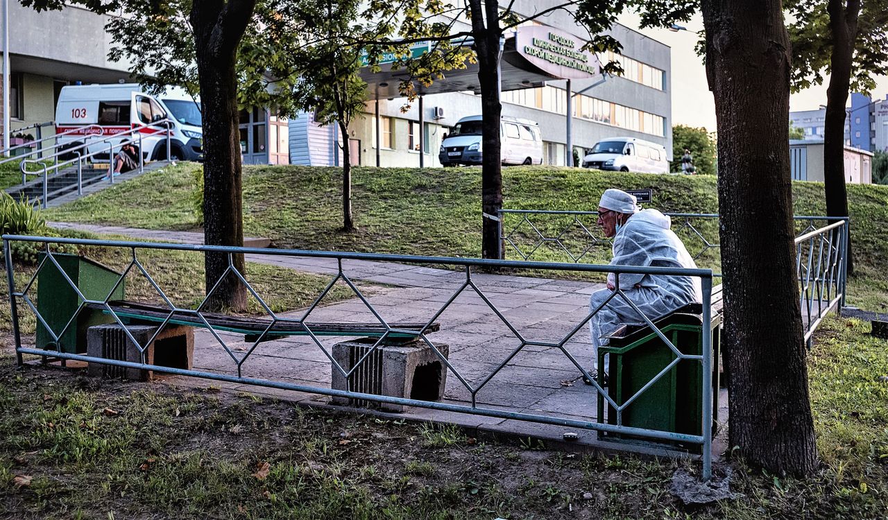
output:
<instances>
[{"instance_id":1,"label":"pale multi-storey hospital building with window rows behind the white vans","mask_svg":"<svg viewBox=\"0 0 888 520\"><path fill-rule=\"evenodd\" d=\"M533 3L518 0L516 12L533 12ZM523 10L523 11L522 11ZM537 19L584 40L582 28L567 12ZM519 28L520 30L520 28ZM672 151L670 47L630 28L614 24L610 35L623 45L622 55L599 56L602 63L619 61L622 76L572 80L572 145L582 160L584 150L604 138L628 136L661 144ZM508 45L508 43L507 43ZM446 80L444 80L446 81ZM543 163L567 163L567 81L525 81L527 88L503 89L503 116L539 124L543 135ZM387 83L377 83L386 85ZM477 85L477 78L475 79ZM425 94L422 100L378 98L367 105L365 117L349 128L353 164L392 167L438 167L441 140L460 118L481 114L477 87ZM371 87L372 88L372 87ZM379 149L377 150L377 103ZM290 121L290 156L303 164L337 164L336 151L311 153L321 142L341 142L335 129L317 127L308 114ZM312 139L313 137L313 139ZM329 161L329 162L327 162Z\"/></svg>"}]
</instances>

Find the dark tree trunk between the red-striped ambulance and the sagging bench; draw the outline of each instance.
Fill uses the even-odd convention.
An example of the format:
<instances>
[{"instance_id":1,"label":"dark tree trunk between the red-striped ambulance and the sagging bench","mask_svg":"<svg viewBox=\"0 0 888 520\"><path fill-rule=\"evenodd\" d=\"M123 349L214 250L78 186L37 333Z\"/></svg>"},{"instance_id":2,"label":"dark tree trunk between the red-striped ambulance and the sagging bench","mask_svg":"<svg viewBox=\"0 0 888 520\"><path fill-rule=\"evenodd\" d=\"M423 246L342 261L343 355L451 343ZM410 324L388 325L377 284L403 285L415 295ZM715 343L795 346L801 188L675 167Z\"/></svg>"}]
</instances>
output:
<instances>
[{"instance_id":1,"label":"dark tree trunk between the red-striped ambulance and the sagging bench","mask_svg":"<svg viewBox=\"0 0 888 520\"><path fill-rule=\"evenodd\" d=\"M194 0L189 16L194 31L197 73L203 106L203 229L214 246L243 246L241 145L238 136L237 78L234 65L255 0ZM234 268L244 272L243 255ZM205 280L209 292L228 268L228 255L208 253ZM242 311L247 290L226 275L205 309Z\"/></svg>"}]
</instances>

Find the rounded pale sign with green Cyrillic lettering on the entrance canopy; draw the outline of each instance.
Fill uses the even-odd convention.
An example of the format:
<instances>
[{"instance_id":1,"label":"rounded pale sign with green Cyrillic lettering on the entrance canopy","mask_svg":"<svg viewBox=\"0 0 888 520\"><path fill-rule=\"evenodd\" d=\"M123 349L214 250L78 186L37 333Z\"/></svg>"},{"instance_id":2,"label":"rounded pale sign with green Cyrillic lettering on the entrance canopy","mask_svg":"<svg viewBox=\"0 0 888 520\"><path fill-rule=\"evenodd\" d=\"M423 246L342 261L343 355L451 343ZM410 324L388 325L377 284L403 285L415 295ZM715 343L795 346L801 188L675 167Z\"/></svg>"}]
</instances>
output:
<instances>
[{"instance_id":1,"label":"rounded pale sign with green Cyrillic lettering on the entrance canopy","mask_svg":"<svg viewBox=\"0 0 888 520\"><path fill-rule=\"evenodd\" d=\"M598 57L583 47L579 36L545 26L519 28L515 49L527 61L560 79L586 79L601 73Z\"/></svg>"}]
</instances>

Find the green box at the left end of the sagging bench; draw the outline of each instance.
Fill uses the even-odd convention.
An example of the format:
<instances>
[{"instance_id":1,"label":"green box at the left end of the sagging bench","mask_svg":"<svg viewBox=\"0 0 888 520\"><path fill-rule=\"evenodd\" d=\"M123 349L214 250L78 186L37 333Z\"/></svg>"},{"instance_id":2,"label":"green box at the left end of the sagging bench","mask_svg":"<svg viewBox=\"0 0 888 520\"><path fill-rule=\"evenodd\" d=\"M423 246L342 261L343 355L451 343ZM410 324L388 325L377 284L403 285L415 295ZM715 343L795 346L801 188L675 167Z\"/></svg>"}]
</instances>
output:
<instances>
[{"instance_id":1,"label":"green box at the left end of the sagging bench","mask_svg":"<svg viewBox=\"0 0 888 520\"><path fill-rule=\"evenodd\" d=\"M43 260L45 253L40 256ZM67 277L73 281L80 292L90 300L104 300L108 292L114 288L121 273L107 265L99 264L89 258L78 255L54 253L52 257L59 263ZM125 280L124 280L125 281ZM114 290L111 300L123 300L123 282ZM59 334L75 314L83 300L74 288L65 280L59 269L47 261L37 274L37 311L52 330ZM59 338L59 351L69 354L86 351L86 329L93 325L114 323L115 319L102 311L83 308L77 315L75 323L68 327ZM55 350L54 340L48 330L37 321L37 348Z\"/></svg>"}]
</instances>

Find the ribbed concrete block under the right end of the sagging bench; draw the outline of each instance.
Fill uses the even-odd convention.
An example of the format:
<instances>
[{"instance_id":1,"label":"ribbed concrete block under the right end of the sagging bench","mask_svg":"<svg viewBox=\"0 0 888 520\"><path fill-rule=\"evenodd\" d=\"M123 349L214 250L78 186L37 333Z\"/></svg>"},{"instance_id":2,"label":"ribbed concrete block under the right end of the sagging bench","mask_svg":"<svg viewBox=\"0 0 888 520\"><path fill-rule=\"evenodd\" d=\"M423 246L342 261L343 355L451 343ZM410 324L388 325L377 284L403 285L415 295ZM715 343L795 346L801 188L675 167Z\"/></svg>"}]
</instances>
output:
<instances>
[{"instance_id":1,"label":"ribbed concrete block under the right end of the sagging bench","mask_svg":"<svg viewBox=\"0 0 888 520\"><path fill-rule=\"evenodd\" d=\"M332 356L348 372L361 358L367 356L348 378L336 366L331 370L330 387L393 398L413 398L438 401L444 397L447 385L447 366L422 341L411 343L384 343L367 353L377 342L373 338L359 338L333 345ZM447 344L435 343L444 358L450 349ZM377 403L364 399L333 398L339 405L379 407L389 412L403 412L404 406Z\"/></svg>"}]
</instances>

